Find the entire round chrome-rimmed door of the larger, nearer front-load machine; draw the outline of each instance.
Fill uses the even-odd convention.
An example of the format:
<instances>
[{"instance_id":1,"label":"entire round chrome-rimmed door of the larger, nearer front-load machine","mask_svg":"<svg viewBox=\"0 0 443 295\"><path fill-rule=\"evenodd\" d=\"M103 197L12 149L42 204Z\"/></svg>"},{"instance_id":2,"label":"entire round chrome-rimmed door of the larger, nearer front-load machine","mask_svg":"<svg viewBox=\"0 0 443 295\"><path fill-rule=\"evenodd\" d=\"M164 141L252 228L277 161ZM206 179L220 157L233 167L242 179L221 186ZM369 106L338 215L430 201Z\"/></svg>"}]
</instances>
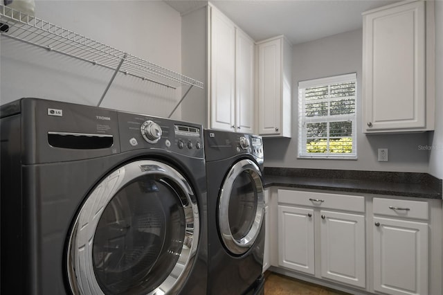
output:
<instances>
[{"instance_id":1,"label":"entire round chrome-rimmed door of the larger, nearer front-load machine","mask_svg":"<svg viewBox=\"0 0 443 295\"><path fill-rule=\"evenodd\" d=\"M87 197L69 241L74 294L176 293L195 258L199 215L186 179L157 161L129 163Z\"/></svg>"}]
</instances>

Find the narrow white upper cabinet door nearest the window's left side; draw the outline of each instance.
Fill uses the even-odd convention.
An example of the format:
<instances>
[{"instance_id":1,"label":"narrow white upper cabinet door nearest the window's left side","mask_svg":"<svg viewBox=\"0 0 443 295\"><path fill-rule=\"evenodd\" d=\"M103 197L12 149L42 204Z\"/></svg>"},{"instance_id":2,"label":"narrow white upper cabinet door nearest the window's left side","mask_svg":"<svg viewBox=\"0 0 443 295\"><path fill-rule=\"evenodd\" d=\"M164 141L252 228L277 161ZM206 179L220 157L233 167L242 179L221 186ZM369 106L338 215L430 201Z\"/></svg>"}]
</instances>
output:
<instances>
[{"instance_id":1,"label":"narrow white upper cabinet door nearest the window's left side","mask_svg":"<svg viewBox=\"0 0 443 295\"><path fill-rule=\"evenodd\" d=\"M280 133L282 40L258 45L258 133Z\"/></svg>"}]
</instances>

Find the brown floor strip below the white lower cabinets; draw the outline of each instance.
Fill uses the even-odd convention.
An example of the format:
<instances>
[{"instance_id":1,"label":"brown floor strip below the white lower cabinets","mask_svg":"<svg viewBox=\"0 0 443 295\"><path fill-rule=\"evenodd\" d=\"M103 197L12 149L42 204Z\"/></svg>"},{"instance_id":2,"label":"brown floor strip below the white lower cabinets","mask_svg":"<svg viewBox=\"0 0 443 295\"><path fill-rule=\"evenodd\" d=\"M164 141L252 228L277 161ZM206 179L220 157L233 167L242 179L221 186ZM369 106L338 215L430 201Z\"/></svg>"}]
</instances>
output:
<instances>
[{"instance_id":1,"label":"brown floor strip below the white lower cabinets","mask_svg":"<svg viewBox=\"0 0 443 295\"><path fill-rule=\"evenodd\" d=\"M347 293L266 271L264 295L346 295Z\"/></svg>"}]
</instances>

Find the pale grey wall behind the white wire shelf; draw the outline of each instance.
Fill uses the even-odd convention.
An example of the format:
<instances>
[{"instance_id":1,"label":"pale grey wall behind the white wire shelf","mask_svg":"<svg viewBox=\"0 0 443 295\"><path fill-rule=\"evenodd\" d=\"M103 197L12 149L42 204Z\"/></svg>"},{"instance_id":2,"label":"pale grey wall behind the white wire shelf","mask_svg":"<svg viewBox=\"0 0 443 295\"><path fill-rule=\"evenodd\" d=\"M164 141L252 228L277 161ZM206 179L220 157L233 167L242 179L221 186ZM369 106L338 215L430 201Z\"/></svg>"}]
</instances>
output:
<instances>
[{"instance_id":1,"label":"pale grey wall behind the white wire shelf","mask_svg":"<svg viewBox=\"0 0 443 295\"><path fill-rule=\"evenodd\" d=\"M36 0L35 16L181 72L181 17L163 1ZM7 37L0 51L1 104L31 96L96 105L114 73ZM118 74L101 106L168 116L181 90Z\"/></svg>"}]
</instances>

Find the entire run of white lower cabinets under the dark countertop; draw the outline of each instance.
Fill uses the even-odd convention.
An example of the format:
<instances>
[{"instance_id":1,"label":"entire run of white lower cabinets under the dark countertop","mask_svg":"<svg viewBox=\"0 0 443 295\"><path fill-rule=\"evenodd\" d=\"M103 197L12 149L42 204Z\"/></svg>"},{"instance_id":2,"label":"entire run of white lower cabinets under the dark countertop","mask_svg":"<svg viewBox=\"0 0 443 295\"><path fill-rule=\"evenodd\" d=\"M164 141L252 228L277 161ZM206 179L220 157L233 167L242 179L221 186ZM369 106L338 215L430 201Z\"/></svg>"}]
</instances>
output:
<instances>
[{"instance_id":1,"label":"entire run of white lower cabinets under the dark countertop","mask_svg":"<svg viewBox=\"0 0 443 295\"><path fill-rule=\"evenodd\" d=\"M443 294L442 199L275 193L271 270L350 294Z\"/></svg>"}]
</instances>

